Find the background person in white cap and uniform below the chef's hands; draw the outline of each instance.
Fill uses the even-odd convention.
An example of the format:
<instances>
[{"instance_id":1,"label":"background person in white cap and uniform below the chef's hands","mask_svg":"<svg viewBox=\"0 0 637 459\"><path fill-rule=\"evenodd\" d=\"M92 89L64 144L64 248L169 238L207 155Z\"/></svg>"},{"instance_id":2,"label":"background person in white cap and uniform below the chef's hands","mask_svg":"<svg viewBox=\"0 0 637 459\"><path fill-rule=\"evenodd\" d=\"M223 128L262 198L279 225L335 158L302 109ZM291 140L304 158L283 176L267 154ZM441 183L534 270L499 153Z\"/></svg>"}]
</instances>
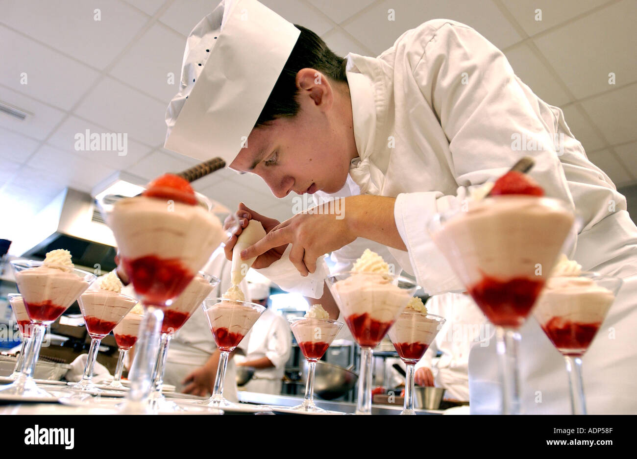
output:
<instances>
[{"instance_id":1,"label":"background person in white cap and uniform below the chef's hands","mask_svg":"<svg viewBox=\"0 0 637 459\"><path fill-rule=\"evenodd\" d=\"M243 386L245 390L279 395L285 362L290 358L292 334L285 318L268 307L269 281L265 278L255 280L248 281L250 301L266 306L266 310L254 323L250 334L243 339L247 340L247 355L241 361L237 358L237 366L254 368L252 379Z\"/></svg>"}]
</instances>

